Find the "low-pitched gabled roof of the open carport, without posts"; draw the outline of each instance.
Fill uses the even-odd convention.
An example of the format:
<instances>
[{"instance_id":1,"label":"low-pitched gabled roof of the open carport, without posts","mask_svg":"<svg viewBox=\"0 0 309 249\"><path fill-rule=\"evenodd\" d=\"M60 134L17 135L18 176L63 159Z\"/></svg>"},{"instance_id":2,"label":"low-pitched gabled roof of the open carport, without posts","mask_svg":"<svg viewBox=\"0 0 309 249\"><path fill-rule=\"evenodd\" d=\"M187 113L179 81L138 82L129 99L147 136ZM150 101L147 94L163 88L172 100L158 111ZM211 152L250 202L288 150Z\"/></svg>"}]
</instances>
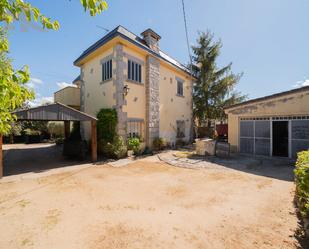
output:
<instances>
[{"instance_id":1,"label":"low-pitched gabled roof of the open carport, without posts","mask_svg":"<svg viewBox=\"0 0 309 249\"><path fill-rule=\"evenodd\" d=\"M97 119L84 112L61 103L53 103L13 112L18 120L42 121L96 121Z\"/></svg>"}]
</instances>

